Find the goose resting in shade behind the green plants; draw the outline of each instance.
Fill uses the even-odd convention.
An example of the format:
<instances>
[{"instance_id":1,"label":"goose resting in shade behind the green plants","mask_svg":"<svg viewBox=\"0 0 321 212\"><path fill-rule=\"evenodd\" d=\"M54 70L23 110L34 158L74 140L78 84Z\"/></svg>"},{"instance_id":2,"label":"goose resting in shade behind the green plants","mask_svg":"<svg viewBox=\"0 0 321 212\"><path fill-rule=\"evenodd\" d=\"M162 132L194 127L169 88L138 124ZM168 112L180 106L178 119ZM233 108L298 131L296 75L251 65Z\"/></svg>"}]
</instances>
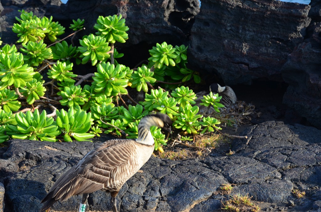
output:
<instances>
[{"instance_id":1,"label":"goose resting in shade behind the green plants","mask_svg":"<svg viewBox=\"0 0 321 212\"><path fill-rule=\"evenodd\" d=\"M232 104L234 104L236 102L236 95L230 86L223 86L222 87L217 83L213 83L210 86L209 92L211 92L211 91L213 92L213 94L219 94L219 96L222 97L220 100L220 103L223 104L225 106L225 108L229 108ZM210 108L200 105L200 103L202 102L203 96L208 95L209 92L208 91L201 91L196 94L197 99L195 100L195 102L196 102L196 105L199 106L199 108L200 108L199 111L201 113L209 112Z\"/></svg>"}]
</instances>

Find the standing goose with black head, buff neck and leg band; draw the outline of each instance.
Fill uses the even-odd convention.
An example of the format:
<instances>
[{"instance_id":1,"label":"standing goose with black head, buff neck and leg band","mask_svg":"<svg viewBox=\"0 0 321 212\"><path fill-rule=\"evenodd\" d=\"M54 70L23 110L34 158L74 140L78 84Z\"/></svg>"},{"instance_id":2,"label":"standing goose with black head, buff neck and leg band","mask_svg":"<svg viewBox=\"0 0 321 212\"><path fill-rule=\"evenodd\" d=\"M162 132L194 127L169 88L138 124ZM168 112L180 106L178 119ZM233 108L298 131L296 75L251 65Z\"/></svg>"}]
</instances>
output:
<instances>
[{"instance_id":1,"label":"standing goose with black head, buff neck and leg band","mask_svg":"<svg viewBox=\"0 0 321 212\"><path fill-rule=\"evenodd\" d=\"M117 212L116 196L120 188L147 162L154 150L150 127L170 131L171 124L164 114L145 116L138 124L137 139L109 140L90 151L56 181L42 200L41 203L46 203L41 211L58 200L64 201L78 194L82 194L80 206L85 206L89 193L103 190L110 192L113 211Z\"/></svg>"}]
</instances>

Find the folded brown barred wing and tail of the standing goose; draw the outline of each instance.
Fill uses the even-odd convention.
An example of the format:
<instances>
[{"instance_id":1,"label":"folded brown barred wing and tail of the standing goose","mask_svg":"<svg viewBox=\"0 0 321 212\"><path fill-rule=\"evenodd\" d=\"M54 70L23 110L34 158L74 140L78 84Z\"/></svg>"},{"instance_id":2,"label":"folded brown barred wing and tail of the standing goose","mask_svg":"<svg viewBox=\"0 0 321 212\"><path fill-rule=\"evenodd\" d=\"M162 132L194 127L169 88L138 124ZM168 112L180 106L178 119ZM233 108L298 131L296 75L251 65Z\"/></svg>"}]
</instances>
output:
<instances>
[{"instance_id":1,"label":"folded brown barred wing and tail of the standing goose","mask_svg":"<svg viewBox=\"0 0 321 212\"><path fill-rule=\"evenodd\" d=\"M102 143L62 175L42 202L64 201L73 195L100 189L120 189L117 188L115 175L117 170L124 170L124 167L133 164L133 142L132 139L114 139ZM111 187L108 188L106 185Z\"/></svg>"}]
</instances>

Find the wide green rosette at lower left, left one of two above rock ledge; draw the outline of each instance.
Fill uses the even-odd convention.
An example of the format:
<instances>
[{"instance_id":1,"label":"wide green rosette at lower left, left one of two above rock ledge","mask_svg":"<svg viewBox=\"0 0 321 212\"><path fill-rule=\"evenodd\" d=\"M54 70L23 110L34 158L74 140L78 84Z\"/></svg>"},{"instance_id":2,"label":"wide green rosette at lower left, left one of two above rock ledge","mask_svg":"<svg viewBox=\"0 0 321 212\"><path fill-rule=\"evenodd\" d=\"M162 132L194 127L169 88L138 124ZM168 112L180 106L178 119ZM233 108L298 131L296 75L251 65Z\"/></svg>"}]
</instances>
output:
<instances>
[{"instance_id":1,"label":"wide green rosette at lower left, left one of two above rock ledge","mask_svg":"<svg viewBox=\"0 0 321 212\"><path fill-rule=\"evenodd\" d=\"M15 115L15 120L16 126L10 124L6 126L7 134L12 138L55 142L56 136L60 134L54 119L47 117L46 110L43 110L40 115L38 109L33 113L19 112Z\"/></svg>"}]
</instances>

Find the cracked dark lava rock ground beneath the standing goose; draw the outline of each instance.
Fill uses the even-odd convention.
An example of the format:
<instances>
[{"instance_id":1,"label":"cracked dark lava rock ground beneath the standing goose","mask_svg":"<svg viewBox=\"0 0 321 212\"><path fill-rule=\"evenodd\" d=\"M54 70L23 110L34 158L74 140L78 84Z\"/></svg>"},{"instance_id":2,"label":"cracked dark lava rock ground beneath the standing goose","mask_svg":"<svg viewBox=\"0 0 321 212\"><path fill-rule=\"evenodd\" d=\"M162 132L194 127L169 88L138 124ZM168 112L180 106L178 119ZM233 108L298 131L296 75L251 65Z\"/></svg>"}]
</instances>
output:
<instances>
[{"instance_id":1,"label":"cracked dark lava rock ground beneath the standing goose","mask_svg":"<svg viewBox=\"0 0 321 212\"><path fill-rule=\"evenodd\" d=\"M321 210L321 130L267 121L250 126L232 142L235 154L213 150L204 159L151 159L120 190L120 211L221 211L221 185L230 195L253 196L262 210ZM0 151L4 211L39 211L53 183L100 143L13 140ZM1 184L0 184L1 185ZM305 191L296 198L293 189ZM0 186L0 192L1 192ZM1 194L1 193L0 193ZM1 196L0 196L1 197ZM57 202L53 211L77 211L81 196ZM88 198L88 211L109 211L110 194Z\"/></svg>"}]
</instances>

